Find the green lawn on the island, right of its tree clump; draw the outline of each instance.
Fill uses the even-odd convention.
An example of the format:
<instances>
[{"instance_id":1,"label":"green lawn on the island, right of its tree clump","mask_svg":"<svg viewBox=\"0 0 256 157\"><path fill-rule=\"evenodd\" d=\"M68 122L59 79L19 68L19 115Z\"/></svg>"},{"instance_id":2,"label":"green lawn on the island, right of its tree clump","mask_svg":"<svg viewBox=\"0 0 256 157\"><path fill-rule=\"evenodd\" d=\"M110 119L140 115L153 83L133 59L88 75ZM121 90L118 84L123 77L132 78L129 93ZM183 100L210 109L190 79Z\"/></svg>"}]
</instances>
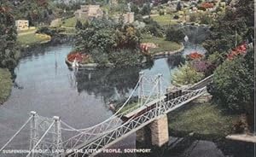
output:
<instances>
[{"instance_id":1,"label":"green lawn on the island, right of its tree clump","mask_svg":"<svg viewBox=\"0 0 256 157\"><path fill-rule=\"evenodd\" d=\"M143 38L142 43L154 43L158 45L158 48L149 49L149 52L152 54L163 51L173 51L182 47L181 44L177 44L172 41L166 41L165 38Z\"/></svg>"}]
</instances>

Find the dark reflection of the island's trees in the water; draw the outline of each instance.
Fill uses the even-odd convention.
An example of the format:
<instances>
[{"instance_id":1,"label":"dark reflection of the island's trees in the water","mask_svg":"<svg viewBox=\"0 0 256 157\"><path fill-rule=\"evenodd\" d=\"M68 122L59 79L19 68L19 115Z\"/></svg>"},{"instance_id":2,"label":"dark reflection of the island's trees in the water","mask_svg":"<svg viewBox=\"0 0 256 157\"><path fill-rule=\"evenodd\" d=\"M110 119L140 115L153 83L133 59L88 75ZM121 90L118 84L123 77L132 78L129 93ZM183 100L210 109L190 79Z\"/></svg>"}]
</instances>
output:
<instances>
[{"instance_id":1,"label":"dark reflection of the island's trees in the water","mask_svg":"<svg viewBox=\"0 0 256 157\"><path fill-rule=\"evenodd\" d=\"M127 96L137 84L139 72L147 67L81 69L75 73L79 93L101 96L107 103Z\"/></svg>"}]
</instances>

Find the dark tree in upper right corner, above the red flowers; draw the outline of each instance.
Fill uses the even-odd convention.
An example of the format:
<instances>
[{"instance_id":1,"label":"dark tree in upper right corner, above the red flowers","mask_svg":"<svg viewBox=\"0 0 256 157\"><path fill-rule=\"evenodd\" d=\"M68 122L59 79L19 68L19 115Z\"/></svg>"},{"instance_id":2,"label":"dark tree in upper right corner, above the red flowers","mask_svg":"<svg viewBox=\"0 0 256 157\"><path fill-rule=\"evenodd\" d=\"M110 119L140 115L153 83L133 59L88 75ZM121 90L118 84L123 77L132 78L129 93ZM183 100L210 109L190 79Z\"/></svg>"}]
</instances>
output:
<instances>
[{"instance_id":1,"label":"dark tree in upper right corner, above the red flowers","mask_svg":"<svg viewBox=\"0 0 256 157\"><path fill-rule=\"evenodd\" d=\"M227 7L224 15L213 22L210 36L203 44L207 55L214 52L227 54L228 50L245 40L252 41L253 0L239 0L235 8ZM239 40L239 37L241 40Z\"/></svg>"}]
</instances>

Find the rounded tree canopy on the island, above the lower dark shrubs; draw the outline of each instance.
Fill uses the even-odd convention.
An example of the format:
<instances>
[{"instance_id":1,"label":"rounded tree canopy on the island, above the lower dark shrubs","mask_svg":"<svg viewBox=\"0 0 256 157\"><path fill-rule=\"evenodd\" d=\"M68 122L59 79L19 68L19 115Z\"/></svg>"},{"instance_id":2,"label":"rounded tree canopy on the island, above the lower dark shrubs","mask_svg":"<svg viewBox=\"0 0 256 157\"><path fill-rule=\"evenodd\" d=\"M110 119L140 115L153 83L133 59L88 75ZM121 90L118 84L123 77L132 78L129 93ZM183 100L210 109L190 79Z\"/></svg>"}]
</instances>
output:
<instances>
[{"instance_id":1,"label":"rounded tree canopy on the island, above the lower dark shrubs","mask_svg":"<svg viewBox=\"0 0 256 157\"><path fill-rule=\"evenodd\" d=\"M131 25L120 26L111 20L95 19L85 28L79 30L75 45L83 53L101 49L110 53L114 49L137 49L140 33Z\"/></svg>"}]
</instances>

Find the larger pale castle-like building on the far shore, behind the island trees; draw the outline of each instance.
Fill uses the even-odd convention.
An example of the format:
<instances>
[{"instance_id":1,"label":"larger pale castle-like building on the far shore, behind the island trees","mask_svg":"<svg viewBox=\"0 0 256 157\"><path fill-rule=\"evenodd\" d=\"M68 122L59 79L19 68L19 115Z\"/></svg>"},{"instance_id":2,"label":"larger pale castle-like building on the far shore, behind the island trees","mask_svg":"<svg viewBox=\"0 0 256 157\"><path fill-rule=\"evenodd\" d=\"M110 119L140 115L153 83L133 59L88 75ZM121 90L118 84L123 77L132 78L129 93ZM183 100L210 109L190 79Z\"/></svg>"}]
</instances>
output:
<instances>
[{"instance_id":1,"label":"larger pale castle-like building on the far shore, behind the island trees","mask_svg":"<svg viewBox=\"0 0 256 157\"><path fill-rule=\"evenodd\" d=\"M76 19L88 19L102 17L103 11L100 5L81 5L81 9L74 13Z\"/></svg>"}]
</instances>

